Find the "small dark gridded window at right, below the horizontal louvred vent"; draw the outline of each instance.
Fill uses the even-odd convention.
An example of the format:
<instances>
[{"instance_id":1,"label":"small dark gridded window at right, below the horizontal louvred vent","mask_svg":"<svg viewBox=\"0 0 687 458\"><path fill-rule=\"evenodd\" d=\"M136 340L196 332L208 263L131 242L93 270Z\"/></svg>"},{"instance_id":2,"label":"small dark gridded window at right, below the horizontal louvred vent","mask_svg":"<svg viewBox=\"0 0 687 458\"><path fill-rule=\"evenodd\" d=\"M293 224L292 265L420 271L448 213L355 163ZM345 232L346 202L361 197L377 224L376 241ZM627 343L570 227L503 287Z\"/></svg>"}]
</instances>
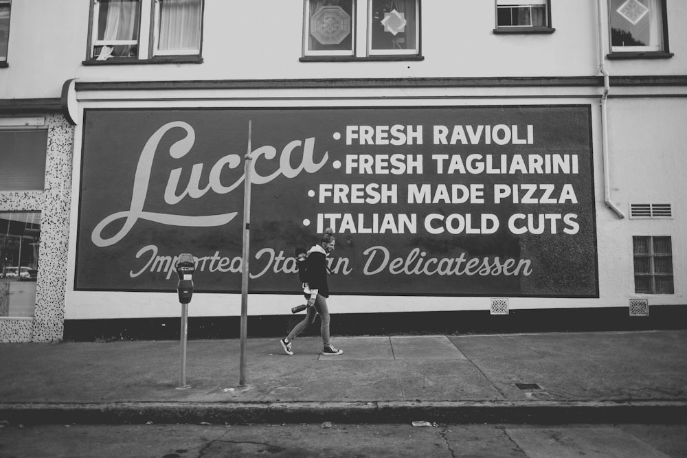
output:
<instances>
[{"instance_id":1,"label":"small dark gridded window at right, below the horizontal louvred vent","mask_svg":"<svg viewBox=\"0 0 687 458\"><path fill-rule=\"evenodd\" d=\"M673 246L670 237L633 237L635 293L673 294Z\"/></svg>"}]
</instances>

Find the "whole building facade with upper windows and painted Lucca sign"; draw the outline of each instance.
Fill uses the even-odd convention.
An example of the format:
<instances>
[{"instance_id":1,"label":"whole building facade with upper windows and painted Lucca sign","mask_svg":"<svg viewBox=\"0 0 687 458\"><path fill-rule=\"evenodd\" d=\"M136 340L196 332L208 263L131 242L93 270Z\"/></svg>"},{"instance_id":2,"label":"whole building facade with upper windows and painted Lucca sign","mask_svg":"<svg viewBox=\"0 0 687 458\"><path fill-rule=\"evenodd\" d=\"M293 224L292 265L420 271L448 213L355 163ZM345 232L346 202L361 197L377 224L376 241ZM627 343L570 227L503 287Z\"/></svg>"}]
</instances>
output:
<instances>
[{"instance_id":1,"label":"whole building facade with upper windows and painted Lucca sign","mask_svg":"<svg viewBox=\"0 0 687 458\"><path fill-rule=\"evenodd\" d=\"M682 310L686 16L0 0L0 339L179 317L180 253L190 316L237 317L245 229L251 317L326 227L342 316Z\"/></svg>"}]
</instances>

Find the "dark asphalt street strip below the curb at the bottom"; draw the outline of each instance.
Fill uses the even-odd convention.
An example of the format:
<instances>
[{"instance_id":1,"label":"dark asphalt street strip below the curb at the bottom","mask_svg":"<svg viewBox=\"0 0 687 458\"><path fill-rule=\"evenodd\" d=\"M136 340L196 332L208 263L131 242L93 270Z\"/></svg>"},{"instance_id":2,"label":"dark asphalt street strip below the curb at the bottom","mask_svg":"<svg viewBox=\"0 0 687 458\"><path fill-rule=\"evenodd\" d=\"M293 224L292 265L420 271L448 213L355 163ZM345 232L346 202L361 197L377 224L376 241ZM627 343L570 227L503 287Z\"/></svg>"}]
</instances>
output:
<instances>
[{"instance_id":1,"label":"dark asphalt street strip below the curb at the bottom","mask_svg":"<svg viewBox=\"0 0 687 458\"><path fill-rule=\"evenodd\" d=\"M687 457L686 424L9 425L0 457Z\"/></svg>"}]
</instances>

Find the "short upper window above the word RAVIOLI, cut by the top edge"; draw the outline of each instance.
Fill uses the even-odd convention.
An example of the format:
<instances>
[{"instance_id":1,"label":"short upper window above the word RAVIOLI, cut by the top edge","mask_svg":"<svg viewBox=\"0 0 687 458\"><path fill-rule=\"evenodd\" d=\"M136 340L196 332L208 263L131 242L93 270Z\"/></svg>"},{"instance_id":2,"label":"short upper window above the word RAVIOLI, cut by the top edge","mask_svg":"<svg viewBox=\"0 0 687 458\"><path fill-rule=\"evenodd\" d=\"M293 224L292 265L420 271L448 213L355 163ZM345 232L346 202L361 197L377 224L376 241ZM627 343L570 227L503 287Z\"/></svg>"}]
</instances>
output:
<instances>
[{"instance_id":1,"label":"short upper window above the word RAVIOLI, cut by the top edge","mask_svg":"<svg viewBox=\"0 0 687 458\"><path fill-rule=\"evenodd\" d=\"M553 32L550 0L496 0L494 32Z\"/></svg>"}]
</instances>

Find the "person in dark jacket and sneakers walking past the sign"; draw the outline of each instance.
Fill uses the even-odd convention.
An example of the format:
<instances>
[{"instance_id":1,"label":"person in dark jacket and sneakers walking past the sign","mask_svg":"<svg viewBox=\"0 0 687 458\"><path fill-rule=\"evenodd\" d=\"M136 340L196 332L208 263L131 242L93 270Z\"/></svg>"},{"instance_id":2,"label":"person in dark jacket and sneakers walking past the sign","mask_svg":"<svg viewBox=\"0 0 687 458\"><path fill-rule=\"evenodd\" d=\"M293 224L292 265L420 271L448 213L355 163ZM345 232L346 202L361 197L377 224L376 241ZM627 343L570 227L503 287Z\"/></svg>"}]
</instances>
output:
<instances>
[{"instance_id":1,"label":"person in dark jacket and sneakers walking past the sign","mask_svg":"<svg viewBox=\"0 0 687 458\"><path fill-rule=\"evenodd\" d=\"M329 297L329 286L327 284L327 256L334 251L335 245L334 231L327 228L322 234L319 244L314 245L308 250L308 257L304 261L306 264L306 277L308 284L303 290L305 297L308 298L308 308L306 309L306 317L295 325L289 335L284 337L280 342L284 352L292 355L291 343L298 334L303 332L308 325L315 322L315 316L319 313L322 320L320 325L320 334L322 334L322 343L324 343L324 350L322 354L342 354L343 350L339 350L332 346L329 338L329 308L327 307L326 298Z\"/></svg>"}]
</instances>

